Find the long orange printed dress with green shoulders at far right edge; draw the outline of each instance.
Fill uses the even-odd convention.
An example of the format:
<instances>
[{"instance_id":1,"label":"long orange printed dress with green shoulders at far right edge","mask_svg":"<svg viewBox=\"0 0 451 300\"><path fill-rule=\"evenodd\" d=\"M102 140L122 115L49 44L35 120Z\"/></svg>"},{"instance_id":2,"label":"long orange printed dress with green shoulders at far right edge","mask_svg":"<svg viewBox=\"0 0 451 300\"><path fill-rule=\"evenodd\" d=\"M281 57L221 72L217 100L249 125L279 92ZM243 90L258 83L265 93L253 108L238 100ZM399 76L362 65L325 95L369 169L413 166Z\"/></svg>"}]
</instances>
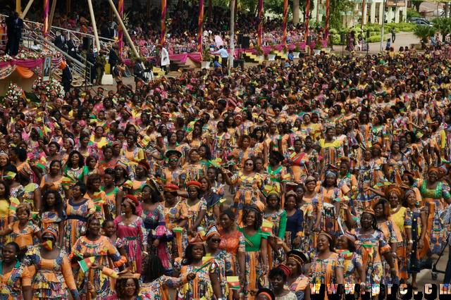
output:
<instances>
[{"instance_id":1,"label":"long orange printed dress with green shoulders at far right edge","mask_svg":"<svg viewBox=\"0 0 451 300\"><path fill-rule=\"evenodd\" d=\"M424 180L419 190L423 197L428 217L427 234L431 241L432 253L438 254L445 246L445 238L447 237L447 227L443 225L443 216L446 213L446 209L442 199L447 199L451 195L442 182L438 182L435 189L427 189L426 180Z\"/></svg>"}]
</instances>

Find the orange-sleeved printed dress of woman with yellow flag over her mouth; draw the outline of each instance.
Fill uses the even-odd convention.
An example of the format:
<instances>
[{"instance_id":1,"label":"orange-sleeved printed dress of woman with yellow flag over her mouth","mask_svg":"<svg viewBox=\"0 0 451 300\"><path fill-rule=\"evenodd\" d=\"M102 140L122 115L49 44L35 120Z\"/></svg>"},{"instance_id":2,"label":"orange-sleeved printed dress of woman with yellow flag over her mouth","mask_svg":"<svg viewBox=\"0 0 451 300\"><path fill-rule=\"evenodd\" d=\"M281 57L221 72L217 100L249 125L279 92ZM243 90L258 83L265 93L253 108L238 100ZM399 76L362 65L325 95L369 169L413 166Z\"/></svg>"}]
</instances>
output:
<instances>
[{"instance_id":1,"label":"orange-sleeved printed dress of woman with yellow flag over her mouth","mask_svg":"<svg viewBox=\"0 0 451 300\"><path fill-rule=\"evenodd\" d=\"M63 249L56 259L42 258L41 247L28 249L23 263L34 273L32 295L34 300L66 300L69 292L73 298L79 296L73 280L68 254Z\"/></svg>"}]
</instances>

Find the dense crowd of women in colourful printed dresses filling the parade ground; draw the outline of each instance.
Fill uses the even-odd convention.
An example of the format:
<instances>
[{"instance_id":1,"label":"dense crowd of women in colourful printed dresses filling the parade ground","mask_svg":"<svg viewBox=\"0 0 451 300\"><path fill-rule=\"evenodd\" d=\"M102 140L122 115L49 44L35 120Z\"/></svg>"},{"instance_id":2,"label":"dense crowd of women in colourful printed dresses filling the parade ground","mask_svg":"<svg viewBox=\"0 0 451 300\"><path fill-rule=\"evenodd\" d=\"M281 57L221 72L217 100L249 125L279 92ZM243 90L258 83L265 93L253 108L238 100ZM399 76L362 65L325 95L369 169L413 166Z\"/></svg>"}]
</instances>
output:
<instances>
[{"instance_id":1,"label":"dense crowd of women in colourful printed dresses filling the parade ground","mask_svg":"<svg viewBox=\"0 0 451 300\"><path fill-rule=\"evenodd\" d=\"M416 289L451 218L449 51L316 56L6 101L1 294Z\"/></svg>"}]
</instances>

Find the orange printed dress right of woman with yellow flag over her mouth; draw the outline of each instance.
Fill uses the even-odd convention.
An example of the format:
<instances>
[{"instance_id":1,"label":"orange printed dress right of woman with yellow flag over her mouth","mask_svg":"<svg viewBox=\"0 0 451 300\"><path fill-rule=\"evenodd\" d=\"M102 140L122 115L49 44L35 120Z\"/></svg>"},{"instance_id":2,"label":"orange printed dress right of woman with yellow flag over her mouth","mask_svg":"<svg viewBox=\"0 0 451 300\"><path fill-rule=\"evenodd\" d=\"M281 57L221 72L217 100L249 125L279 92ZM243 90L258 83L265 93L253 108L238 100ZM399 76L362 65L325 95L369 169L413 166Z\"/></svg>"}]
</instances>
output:
<instances>
[{"instance_id":1,"label":"orange printed dress right of woman with yellow flag over her mouth","mask_svg":"<svg viewBox=\"0 0 451 300\"><path fill-rule=\"evenodd\" d=\"M90 254L89 256L94 256L95 262L106 268L110 267L110 262L118 268L127 260L119 254L118 249L111 244L111 240L103 235L97 241L90 241L85 236L80 237L72 247L72 252L69 255L70 261L75 256L75 252L81 255ZM113 294L114 280L108 276L109 273L106 273L105 270L108 269L104 269L104 272L97 269L89 269L87 272L83 272L78 263L75 265L73 275L80 293L80 299L87 299L87 282L94 284L99 300L106 299Z\"/></svg>"}]
</instances>

